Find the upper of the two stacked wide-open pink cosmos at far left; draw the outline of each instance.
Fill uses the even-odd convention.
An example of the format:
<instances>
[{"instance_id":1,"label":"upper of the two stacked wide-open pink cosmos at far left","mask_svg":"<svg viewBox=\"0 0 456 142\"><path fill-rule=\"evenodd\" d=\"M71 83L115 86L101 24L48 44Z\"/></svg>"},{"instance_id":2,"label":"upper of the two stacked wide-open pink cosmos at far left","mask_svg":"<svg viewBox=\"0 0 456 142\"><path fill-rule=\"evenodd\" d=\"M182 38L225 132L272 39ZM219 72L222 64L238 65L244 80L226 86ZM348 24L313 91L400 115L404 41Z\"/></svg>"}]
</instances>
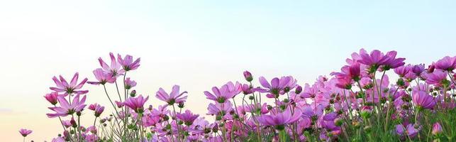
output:
<instances>
[{"instance_id":1,"label":"upper of the two stacked wide-open pink cosmos at far left","mask_svg":"<svg viewBox=\"0 0 456 142\"><path fill-rule=\"evenodd\" d=\"M49 87L49 89L52 89L53 91L55 92L65 92L65 94L72 94L72 93L76 93L76 94L86 94L87 92L89 92L88 90L78 90L78 89L81 89L82 86L84 86L84 84L87 82L87 78L84 78L84 80L82 80L82 82L80 82L79 84L77 84L77 78L79 77L79 73L76 72L71 80L71 82L67 82L67 80L65 80L65 78L62 77L62 75L59 76L60 77L60 80L57 79L57 77L52 77L52 80L54 80L55 84L57 85L57 87Z\"/></svg>"}]
</instances>

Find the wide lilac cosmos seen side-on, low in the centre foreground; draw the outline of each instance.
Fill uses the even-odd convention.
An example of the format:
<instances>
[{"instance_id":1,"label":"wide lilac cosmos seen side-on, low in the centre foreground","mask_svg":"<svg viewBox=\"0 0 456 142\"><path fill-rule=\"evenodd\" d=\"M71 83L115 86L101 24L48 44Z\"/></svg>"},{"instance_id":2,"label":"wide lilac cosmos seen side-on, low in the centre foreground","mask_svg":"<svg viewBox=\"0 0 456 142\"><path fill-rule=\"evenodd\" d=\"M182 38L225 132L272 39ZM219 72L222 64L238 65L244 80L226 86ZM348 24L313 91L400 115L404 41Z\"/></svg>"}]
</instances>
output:
<instances>
[{"instance_id":1,"label":"wide lilac cosmos seen side-on, low in the centre foreground","mask_svg":"<svg viewBox=\"0 0 456 142\"><path fill-rule=\"evenodd\" d=\"M302 112L299 109L295 109L293 114L291 114L290 109L285 109L283 112L263 114L258 118L258 121L265 126L276 126L276 129L283 130L284 124L298 121L301 118L301 114Z\"/></svg>"}]
</instances>

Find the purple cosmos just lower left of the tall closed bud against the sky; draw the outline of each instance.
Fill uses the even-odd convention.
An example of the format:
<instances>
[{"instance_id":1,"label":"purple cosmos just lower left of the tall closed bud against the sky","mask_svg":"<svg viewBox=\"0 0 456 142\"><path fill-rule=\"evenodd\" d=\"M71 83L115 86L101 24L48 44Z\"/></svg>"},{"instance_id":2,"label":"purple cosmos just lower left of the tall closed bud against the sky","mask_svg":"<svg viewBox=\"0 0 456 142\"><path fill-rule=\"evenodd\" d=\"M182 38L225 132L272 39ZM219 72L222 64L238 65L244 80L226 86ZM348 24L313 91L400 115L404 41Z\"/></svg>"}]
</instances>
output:
<instances>
[{"instance_id":1,"label":"purple cosmos just lower left of the tall closed bud against the sky","mask_svg":"<svg viewBox=\"0 0 456 142\"><path fill-rule=\"evenodd\" d=\"M207 99L211 99L218 103L223 103L228 99L235 97L242 91L242 86L239 82L233 84L233 82L228 82L224 84L220 89L218 87L212 87L212 92L205 91L204 94L206 95Z\"/></svg>"}]
</instances>

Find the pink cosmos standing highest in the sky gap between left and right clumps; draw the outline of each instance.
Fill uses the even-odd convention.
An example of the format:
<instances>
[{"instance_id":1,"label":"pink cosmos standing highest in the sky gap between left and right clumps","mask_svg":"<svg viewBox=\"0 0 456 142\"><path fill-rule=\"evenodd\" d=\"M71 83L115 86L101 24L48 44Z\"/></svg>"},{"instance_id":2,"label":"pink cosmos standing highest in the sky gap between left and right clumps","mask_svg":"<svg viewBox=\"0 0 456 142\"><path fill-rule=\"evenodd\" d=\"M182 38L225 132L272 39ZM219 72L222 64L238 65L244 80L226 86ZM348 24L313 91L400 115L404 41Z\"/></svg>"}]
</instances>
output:
<instances>
[{"instance_id":1,"label":"pink cosmos standing highest in the sky gap between left and right clumps","mask_svg":"<svg viewBox=\"0 0 456 142\"><path fill-rule=\"evenodd\" d=\"M167 92L165 92L165 90L162 88L158 89L157 93L155 94L155 97L164 102L167 102L169 105L172 105L176 102L185 102L185 99L187 99L187 95L182 96L183 94L187 94L187 91L184 91L179 94L179 85L174 85L172 87L171 93L169 94L167 94Z\"/></svg>"}]
</instances>

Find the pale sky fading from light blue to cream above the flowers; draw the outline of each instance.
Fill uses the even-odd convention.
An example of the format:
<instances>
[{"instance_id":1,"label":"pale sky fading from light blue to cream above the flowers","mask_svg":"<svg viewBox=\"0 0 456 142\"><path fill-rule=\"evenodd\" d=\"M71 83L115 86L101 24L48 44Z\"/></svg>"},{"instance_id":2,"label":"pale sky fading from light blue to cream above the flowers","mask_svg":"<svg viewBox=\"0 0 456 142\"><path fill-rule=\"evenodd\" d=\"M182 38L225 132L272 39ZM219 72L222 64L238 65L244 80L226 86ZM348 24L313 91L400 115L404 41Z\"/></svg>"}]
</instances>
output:
<instances>
[{"instance_id":1,"label":"pale sky fading from light blue to cream above the flowers","mask_svg":"<svg viewBox=\"0 0 456 142\"><path fill-rule=\"evenodd\" d=\"M407 63L456 55L454 1L0 1L0 138L50 141L60 133L43 96L51 78L94 80L109 52L141 58L129 77L148 104L174 84L206 116L203 92L228 81L292 75L299 84L340 70L360 48L396 50ZM68 79L69 80L69 79ZM101 86L87 103L109 108ZM108 86L113 94L114 87ZM109 109L107 109L109 111ZM93 117L84 115L83 124ZM6 138L6 139L5 139Z\"/></svg>"}]
</instances>

